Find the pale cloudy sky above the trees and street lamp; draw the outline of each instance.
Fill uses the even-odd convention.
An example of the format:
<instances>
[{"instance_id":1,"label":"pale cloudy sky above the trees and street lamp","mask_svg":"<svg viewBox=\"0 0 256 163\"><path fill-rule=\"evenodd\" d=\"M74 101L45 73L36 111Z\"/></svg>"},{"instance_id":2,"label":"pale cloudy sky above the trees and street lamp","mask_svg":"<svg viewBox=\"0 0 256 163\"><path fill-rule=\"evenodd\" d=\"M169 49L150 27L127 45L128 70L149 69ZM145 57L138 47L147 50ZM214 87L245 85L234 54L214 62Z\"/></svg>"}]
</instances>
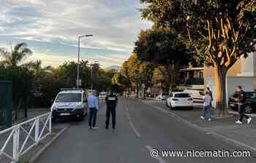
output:
<instances>
[{"instance_id":1,"label":"pale cloudy sky above the trees and street lamp","mask_svg":"<svg viewBox=\"0 0 256 163\"><path fill-rule=\"evenodd\" d=\"M102 67L121 65L131 55L140 30L139 0L0 0L0 47L26 42L26 61L56 67L80 57ZM10 44L11 43L11 44Z\"/></svg>"}]
</instances>

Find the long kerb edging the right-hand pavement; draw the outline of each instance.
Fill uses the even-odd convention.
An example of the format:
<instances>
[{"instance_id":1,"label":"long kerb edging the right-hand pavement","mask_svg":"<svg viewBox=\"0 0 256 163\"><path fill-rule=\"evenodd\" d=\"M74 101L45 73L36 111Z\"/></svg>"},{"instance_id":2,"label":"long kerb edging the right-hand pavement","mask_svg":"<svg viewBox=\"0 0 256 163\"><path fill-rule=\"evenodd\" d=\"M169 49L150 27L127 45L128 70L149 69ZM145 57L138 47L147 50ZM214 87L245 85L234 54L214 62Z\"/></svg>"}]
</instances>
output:
<instances>
[{"instance_id":1,"label":"long kerb edging the right-hand pavement","mask_svg":"<svg viewBox=\"0 0 256 163\"><path fill-rule=\"evenodd\" d=\"M144 103L142 100L140 100L140 102ZM169 114L170 116L173 116L173 117L175 117L176 119L178 119L178 121L184 122L184 123L188 124L190 127L194 127L194 128L196 128L197 130L200 130L201 132L206 132L207 134L214 135L216 138L219 138L220 140L225 140L227 143L230 143L231 145L235 145L235 146L237 146L237 147L244 148L244 149L247 149L247 150L249 149L249 150L251 150L254 154L256 154L256 148L253 147L253 146L249 146L249 145L247 145L247 144L245 144L245 143L241 143L241 142L239 142L238 140L233 140L233 139L231 139L231 138L227 138L226 136L221 135L221 134L218 134L217 132L213 132L213 131L211 131L211 130L206 130L206 129L204 129L203 127L199 127L199 126L197 126L196 124L193 124L192 122L189 122L189 121L187 121L186 119L182 118L181 116L178 116L177 114L174 114L174 113L172 113L172 112L170 112L170 111L167 111L167 110L165 110L164 108L161 108L161 107L159 107L159 106L153 106L153 105L148 104L148 103L145 103L145 104L148 105L148 106L151 106L151 107L153 107L153 108L156 108L156 109L159 110L159 111L165 112L165 113Z\"/></svg>"}]
</instances>

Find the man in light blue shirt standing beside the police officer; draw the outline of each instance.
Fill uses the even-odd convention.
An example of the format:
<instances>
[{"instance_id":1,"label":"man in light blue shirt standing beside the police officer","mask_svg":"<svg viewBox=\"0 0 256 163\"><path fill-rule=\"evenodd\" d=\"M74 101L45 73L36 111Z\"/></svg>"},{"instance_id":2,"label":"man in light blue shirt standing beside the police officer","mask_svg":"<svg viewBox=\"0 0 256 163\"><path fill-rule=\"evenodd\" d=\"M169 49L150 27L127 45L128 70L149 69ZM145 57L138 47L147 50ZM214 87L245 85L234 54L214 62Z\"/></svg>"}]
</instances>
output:
<instances>
[{"instance_id":1,"label":"man in light blue shirt standing beside the police officer","mask_svg":"<svg viewBox=\"0 0 256 163\"><path fill-rule=\"evenodd\" d=\"M96 120L97 120L97 112L99 110L98 106L98 99L95 96L94 93L89 95L88 97L88 107L89 107L89 129L98 129L99 127L96 127Z\"/></svg>"}]
</instances>

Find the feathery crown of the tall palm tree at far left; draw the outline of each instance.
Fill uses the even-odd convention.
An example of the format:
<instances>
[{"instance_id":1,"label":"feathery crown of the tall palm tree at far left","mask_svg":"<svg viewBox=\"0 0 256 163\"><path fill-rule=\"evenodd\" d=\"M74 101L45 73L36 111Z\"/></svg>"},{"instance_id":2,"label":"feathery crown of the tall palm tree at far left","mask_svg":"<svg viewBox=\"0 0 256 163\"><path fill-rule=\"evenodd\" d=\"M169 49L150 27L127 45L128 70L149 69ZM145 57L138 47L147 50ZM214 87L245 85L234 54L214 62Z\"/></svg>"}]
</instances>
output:
<instances>
[{"instance_id":1,"label":"feathery crown of the tall palm tree at far left","mask_svg":"<svg viewBox=\"0 0 256 163\"><path fill-rule=\"evenodd\" d=\"M1 65L10 66L10 67L18 67L27 57L32 55L31 49L27 47L26 43L16 44L12 52L7 52L6 49L0 49L0 56L3 61L1 61Z\"/></svg>"}]
</instances>

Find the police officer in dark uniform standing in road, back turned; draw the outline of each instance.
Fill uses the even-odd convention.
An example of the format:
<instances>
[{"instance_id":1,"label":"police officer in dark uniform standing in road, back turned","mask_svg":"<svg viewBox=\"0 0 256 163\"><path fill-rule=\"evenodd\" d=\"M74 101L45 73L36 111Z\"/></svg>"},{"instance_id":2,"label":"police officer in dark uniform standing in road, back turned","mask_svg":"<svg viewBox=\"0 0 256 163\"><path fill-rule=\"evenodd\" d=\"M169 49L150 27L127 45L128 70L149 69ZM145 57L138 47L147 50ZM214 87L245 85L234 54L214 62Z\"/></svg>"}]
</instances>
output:
<instances>
[{"instance_id":1,"label":"police officer in dark uniform standing in road, back turned","mask_svg":"<svg viewBox=\"0 0 256 163\"><path fill-rule=\"evenodd\" d=\"M116 128L116 105L118 103L118 98L113 92L110 92L110 95L107 95L105 98L107 104L107 113L106 113L106 129L108 129L110 114L112 116L112 127Z\"/></svg>"}]
</instances>

